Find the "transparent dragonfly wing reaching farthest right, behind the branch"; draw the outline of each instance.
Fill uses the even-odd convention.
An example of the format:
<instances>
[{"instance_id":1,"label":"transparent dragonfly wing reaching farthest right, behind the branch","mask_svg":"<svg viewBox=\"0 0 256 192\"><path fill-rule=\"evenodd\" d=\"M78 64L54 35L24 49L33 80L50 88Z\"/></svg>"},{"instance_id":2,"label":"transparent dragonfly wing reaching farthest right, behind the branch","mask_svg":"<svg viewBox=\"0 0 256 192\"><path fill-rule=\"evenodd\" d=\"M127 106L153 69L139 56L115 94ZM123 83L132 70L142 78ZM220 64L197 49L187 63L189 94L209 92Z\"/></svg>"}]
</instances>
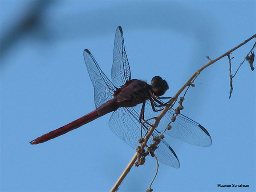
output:
<instances>
[{"instance_id":1,"label":"transparent dragonfly wing reaching farthest right, behind the branch","mask_svg":"<svg viewBox=\"0 0 256 192\"><path fill-rule=\"evenodd\" d=\"M163 102L163 100L160 100ZM164 103L164 102L163 102ZM159 108L156 108L159 109ZM151 104L149 101L145 104L145 113L144 119L149 119L154 116L158 116L159 112L152 111ZM157 131L162 132L166 129L167 125L171 122L172 116L175 114L173 109L170 109L165 116L160 120ZM154 120L148 121L149 123L153 123ZM199 145L199 146L210 146L212 144L211 136L209 135L208 131L197 122L189 119L188 117L178 114L176 116L175 122L170 124L172 128L165 133L169 136L179 138L187 143L192 145Z\"/></svg>"}]
</instances>

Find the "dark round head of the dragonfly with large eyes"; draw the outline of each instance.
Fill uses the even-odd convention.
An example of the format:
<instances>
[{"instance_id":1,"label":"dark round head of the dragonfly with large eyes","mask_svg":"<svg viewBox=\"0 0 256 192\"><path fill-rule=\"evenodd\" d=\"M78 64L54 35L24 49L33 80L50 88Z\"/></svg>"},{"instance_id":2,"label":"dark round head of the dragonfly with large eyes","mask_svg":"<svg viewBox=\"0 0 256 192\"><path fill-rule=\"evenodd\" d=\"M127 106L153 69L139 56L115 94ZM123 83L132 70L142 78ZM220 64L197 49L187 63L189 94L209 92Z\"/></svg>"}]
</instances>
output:
<instances>
[{"instance_id":1,"label":"dark round head of the dragonfly with large eyes","mask_svg":"<svg viewBox=\"0 0 256 192\"><path fill-rule=\"evenodd\" d=\"M151 92L155 96L162 96L168 89L168 84L160 76L154 76L151 80Z\"/></svg>"}]
</instances>

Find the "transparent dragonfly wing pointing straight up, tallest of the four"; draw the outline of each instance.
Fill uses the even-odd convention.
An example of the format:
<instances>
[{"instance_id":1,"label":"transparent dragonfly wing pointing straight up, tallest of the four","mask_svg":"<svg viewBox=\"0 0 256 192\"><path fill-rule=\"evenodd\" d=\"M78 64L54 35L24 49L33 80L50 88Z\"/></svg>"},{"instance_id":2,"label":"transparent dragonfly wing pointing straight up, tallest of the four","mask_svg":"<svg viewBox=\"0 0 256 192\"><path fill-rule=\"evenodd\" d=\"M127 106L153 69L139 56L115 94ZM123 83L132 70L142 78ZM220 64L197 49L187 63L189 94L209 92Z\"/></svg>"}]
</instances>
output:
<instances>
[{"instance_id":1,"label":"transparent dragonfly wing pointing straight up, tallest of the four","mask_svg":"<svg viewBox=\"0 0 256 192\"><path fill-rule=\"evenodd\" d=\"M121 87L126 81L131 79L121 26L118 26L116 29L111 78L117 87Z\"/></svg>"}]
</instances>

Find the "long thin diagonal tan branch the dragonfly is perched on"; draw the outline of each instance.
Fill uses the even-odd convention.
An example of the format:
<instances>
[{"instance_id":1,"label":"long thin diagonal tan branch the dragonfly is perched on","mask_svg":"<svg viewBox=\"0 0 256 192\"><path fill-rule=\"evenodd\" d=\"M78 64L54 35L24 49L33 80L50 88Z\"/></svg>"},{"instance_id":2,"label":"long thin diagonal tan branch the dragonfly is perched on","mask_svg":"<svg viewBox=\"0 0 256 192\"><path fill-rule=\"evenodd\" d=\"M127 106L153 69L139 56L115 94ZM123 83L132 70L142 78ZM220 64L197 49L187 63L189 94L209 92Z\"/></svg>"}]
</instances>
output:
<instances>
[{"instance_id":1,"label":"long thin diagonal tan branch the dragonfly is perched on","mask_svg":"<svg viewBox=\"0 0 256 192\"><path fill-rule=\"evenodd\" d=\"M225 52L223 55L219 56L218 58L215 58L213 60L210 60L207 64L205 64L203 67L201 67L199 70L197 70L194 75L192 75L189 80L180 88L180 90L178 90L178 92L175 94L175 96L167 103L166 108L163 109L163 111L161 111L161 113L159 114L159 116L157 117L156 121L153 123L152 127L150 128L150 130L148 131L148 134L145 137L145 142L143 143L143 146L145 146L145 144L148 142L149 138L151 137L154 129L157 127L158 123L160 122L160 120L163 118L163 116L166 114L166 112L169 110L170 105L173 104L173 102L175 102L178 98L178 96L180 95L180 93L182 93L182 91L188 86L188 84L191 84L191 82L195 81L195 79L197 78L197 76L201 73L202 70L204 70L206 67L210 66L211 64L215 63L216 61L220 60L221 58L229 55L231 52L233 52L234 50L238 49L239 47L243 46L244 44L246 44L248 41L250 41L251 39L256 38L256 34L251 36L250 38L248 38L246 41L244 41L243 43L239 44L238 46L234 47L233 49L230 49L229 51ZM135 161L137 160L137 152L134 154L134 157L132 157L130 163L128 164L128 166L125 168L124 172L122 173L122 175L119 177L119 179L116 181L116 183L114 184L114 186L111 189L111 192L115 192L119 185L122 183L122 180L125 178L125 176L128 174L128 172L130 171L131 167L133 166L133 164L135 163Z\"/></svg>"}]
</instances>

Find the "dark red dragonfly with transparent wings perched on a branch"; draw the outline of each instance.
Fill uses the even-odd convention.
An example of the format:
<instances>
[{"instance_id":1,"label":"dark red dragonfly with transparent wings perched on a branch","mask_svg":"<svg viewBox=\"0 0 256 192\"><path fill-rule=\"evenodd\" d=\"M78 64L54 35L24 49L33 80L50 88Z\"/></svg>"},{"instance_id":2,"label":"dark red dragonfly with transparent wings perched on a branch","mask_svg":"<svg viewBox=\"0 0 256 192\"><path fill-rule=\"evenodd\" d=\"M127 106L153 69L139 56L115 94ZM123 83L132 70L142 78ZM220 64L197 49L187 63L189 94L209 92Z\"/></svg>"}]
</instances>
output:
<instances>
[{"instance_id":1,"label":"dark red dragonfly with transparent wings perched on a branch","mask_svg":"<svg viewBox=\"0 0 256 192\"><path fill-rule=\"evenodd\" d=\"M154 123L152 117L158 116L165 107L164 104L167 103L166 99L168 98L160 97L169 88L167 82L160 76L154 76L151 84L139 79L131 79L131 70L125 51L121 26L117 27L114 39L111 69L113 83L100 69L88 49L84 49L84 61L94 88L96 110L32 140L30 144L44 143L79 128L100 116L113 112L109 120L109 127L128 145L136 148L139 145L138 139L147 134L149 126ZM149 138L149 143L154 143L153 137L158 137L166 130L174 115L175 110L170 108ZM144 123L144 126L141 126L145 119L150 120ZM172 128L165 132L169 136L179 138L192 145L210 146L212 143L210 134L202 125L180 113L176 114L176 120L171 125ZM180 167L180 162L174 150L163 139L157 145L154 155L168 166Z\"/></svg>"}]
</instances>

